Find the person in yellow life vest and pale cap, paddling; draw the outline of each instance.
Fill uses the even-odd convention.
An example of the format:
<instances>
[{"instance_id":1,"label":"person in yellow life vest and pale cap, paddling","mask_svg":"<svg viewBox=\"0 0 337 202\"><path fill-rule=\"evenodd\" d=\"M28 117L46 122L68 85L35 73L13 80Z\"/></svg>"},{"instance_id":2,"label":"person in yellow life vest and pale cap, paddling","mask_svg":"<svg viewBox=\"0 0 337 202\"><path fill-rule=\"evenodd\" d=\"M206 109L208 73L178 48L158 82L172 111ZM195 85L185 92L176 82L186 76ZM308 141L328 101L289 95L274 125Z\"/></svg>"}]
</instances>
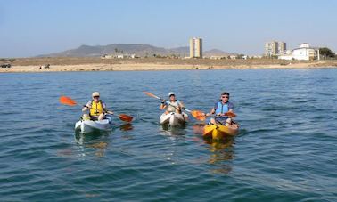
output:
<instances>
[{"instance_id":1,"label":"person in yellow life vest and pale cap, paddling","mask_svg":"<svg viewBox=\"0 0 337 202\"><path fill-rule=\"evenodd\" d=\"M112 111L106 108L105 102L100 100L100 93L94 92L92 98L93 100L88 101L82 109L82 111L89 109L89 117L91 120L103 120L107 113L113 114Z\"/></svg>"}]
</instances>

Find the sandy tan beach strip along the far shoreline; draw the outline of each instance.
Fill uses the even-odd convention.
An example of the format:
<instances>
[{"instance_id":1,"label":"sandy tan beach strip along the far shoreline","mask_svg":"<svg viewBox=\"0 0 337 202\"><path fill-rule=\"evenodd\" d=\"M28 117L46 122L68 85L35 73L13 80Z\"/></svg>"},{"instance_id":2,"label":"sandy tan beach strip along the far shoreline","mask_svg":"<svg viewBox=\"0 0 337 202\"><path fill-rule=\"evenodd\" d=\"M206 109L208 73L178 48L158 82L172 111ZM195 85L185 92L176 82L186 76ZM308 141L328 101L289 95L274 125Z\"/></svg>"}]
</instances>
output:
<instances>
[{"instance_id":1,"label":"sandy tan beach strip along the far shoreline","mask_svg":"<svg viewBox=\"0 0 337 202\"><path fill-rule=\"evenodd\" d=\"M45 69L45 64L50 64ZM57 71L137 71L183 69L313 69L336 68L334 61L251 60L182 60L182 59L100 59L100 58L24 58L12 61L5 72L57 72ZM40 68L41 67L41 68Z\"/></svg>"}]
</instances>

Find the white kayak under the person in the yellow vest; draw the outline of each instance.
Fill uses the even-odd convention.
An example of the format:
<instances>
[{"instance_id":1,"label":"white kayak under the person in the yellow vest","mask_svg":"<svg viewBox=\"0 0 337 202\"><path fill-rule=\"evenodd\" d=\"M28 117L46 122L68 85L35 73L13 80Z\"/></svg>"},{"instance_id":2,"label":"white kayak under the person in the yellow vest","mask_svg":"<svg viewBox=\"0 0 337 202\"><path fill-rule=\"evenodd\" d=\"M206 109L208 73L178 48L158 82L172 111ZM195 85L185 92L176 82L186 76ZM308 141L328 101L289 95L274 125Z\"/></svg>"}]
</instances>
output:
<instances>
[{"instance_id":1,"label":"white kayak under the person in the yellow vest","mask_svg":"<svg viewBox=\"0 0 337 202\"><path fill-rule=\"evenodd\" d=\"M80 133L92 133L94 131L110 131L111 130L112 117L106 115L103 120L79 120L75 124L75 131Z\"/></svg>"}]
</instances>

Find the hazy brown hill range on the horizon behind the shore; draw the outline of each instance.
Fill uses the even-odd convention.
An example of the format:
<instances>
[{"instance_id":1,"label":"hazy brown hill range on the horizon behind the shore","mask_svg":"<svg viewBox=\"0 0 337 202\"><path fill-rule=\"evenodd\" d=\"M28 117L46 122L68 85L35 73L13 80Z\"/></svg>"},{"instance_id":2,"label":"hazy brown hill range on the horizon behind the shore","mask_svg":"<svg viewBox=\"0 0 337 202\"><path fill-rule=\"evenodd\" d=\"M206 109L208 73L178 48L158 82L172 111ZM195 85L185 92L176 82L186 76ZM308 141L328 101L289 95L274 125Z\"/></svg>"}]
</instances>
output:
<instances>
[{"instance_id":1,"label":"hazy brown hill range on the horizon behind the shore","mask_svg":"<svg viewBox=\"0 0 337 202\"><path fill-rule=\"evenodd\" d=\"M108 44L108 45L81 45L76 49L67 50L60 53L50 53L44 55L38 55L37 57L99 57L103 54L117 54L117 53L129 53L136 54L137 56L153 56L161 55L178 55L180 57L189 56L189 47L177 47L177 48L162 48L149 44ZM230 53L223 52L218 49L212 49L204 52L204 55L228 55Z\"/></svg>"}]
</instances>

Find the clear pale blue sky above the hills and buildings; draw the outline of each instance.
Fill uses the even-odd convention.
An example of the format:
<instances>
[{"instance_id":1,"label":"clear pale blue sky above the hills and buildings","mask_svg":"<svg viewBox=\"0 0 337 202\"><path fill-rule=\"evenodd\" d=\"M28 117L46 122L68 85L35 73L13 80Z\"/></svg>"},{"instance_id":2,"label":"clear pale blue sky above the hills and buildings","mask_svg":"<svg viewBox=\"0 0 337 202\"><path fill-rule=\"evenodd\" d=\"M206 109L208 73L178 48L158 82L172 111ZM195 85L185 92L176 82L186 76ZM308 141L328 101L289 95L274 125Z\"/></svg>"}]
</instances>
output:
<instances>
[{"instance_id":1,"label":"clear pale blue sky above the hills and buildings","mask_svg":"<svg viewBox=\"0 0 337 202\"><path fill-rule=\"evenodd\" d=\"M0 0L0 58L82 44L188 46L262 54L267 41L337 52L337 0Z\"/></svg>"}]
</instances>

